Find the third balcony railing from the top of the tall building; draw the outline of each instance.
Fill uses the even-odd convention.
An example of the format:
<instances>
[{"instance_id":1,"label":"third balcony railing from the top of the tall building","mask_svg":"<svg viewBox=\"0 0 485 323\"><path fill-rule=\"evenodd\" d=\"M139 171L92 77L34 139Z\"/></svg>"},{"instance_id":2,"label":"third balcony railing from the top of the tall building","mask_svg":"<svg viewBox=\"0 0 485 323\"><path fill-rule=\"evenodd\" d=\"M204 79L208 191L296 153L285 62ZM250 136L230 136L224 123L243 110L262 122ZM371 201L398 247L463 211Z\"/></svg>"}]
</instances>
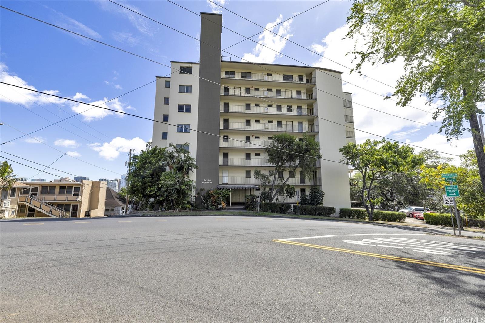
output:
<instances>
[{"instance_id":1,"label":"third balcony railing from the top of the tall building","mask_svg":"<svg viewBox=\"0 0 485 323\"><path fill-rule=\"evenodd\" d=\"M223 113L260 113L260 114L280 114L280 115L303 115L303 116L317 116L317 109L303 108L299 106L282 106L276 105L273 107L261 107L254 105L221 105L221 112Z\"/></svg>"}]
</instances>

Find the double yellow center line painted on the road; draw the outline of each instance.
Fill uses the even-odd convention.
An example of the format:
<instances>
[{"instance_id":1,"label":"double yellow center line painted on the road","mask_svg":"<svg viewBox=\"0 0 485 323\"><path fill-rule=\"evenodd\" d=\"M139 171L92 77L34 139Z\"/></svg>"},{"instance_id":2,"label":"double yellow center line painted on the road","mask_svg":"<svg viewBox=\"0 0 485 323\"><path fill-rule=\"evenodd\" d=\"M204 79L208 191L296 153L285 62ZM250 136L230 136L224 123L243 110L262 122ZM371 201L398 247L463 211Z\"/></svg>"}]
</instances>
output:
<instances>
[{"instance_id":1,"label":"double yellow center line painted on the road","mask_svg":"<svg viewBox=\"0 0 485 323\"><path fill-rule=\"evenodd\" d=\"M342 249L342 248L334 248L334 247L329 247L329 246L324 246L324 245L309 244L309 243L302 243L302 242L284 241L284 240L277 240L277 239L273 240L273 242L294 244L294 245L300 245L300 246L304 246L304 247L312 247L312 248L324 249L324 250L330 250L330 251L346 252L346 253L349 253L349 254L356 254L356 255L361 255L361 256L369 256L369 257L383 258L383 259L396 260L396 261L412 262L412 263L417 263L417 264L420 264L420 265L449 268L449 269L461 270L461 271L477 273L477 274L485 274L485 269L483 269L483 268L466 267L466 266L459 266L459 265L453 265L453 264L448 264L448 263L441 263L441 262L434 262L434 261L427 261L427 260L420 260L420 259L413 259L413 258L403 258L403 257L389 256L389 255L380 255L380 254L374 254L374 253L370 253L370 252L350 250L350 249Z\"/></svg>"}]
</instances>

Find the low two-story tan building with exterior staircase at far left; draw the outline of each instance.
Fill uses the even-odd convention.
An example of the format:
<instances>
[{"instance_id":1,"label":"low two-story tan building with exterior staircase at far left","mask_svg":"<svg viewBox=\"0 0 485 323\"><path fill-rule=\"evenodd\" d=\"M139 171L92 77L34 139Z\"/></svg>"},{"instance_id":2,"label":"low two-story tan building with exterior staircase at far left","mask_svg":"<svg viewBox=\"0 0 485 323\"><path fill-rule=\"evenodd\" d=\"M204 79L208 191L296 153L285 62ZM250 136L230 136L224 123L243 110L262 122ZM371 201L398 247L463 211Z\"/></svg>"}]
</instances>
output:
<instances>
[{"instance_id":1,"label":"low two-story tan building with exterior staircase at far left","mask_svg":"<svg viewBox=\"0 0 485 323\"><path fill-rule=\"evenodd\" d=\"M2 190L0 216L96 217L104 215L106 182L16 182Z\"/></svg>"}]
</instances>

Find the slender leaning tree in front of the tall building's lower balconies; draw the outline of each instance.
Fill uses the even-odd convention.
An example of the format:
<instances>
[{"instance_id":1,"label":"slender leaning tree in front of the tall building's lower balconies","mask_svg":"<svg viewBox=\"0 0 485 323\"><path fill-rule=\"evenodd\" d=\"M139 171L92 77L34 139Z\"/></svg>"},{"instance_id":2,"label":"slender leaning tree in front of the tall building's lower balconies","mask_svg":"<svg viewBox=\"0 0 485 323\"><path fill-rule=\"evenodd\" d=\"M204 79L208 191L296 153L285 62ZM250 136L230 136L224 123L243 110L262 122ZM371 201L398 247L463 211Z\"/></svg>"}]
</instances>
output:
<instances>
[{"instance_id":1,"label":"slender leaning tree in front of the tall building's lower balconies","mask_svg":"<svg viewBox=\"0 0 485 323\"><path fill-rule=\"evenodd\" d=\"M310 178L316 170L315 162L322 157L320 144L312 136L303 135L297 139L288 133L273 136L273 142L265 148L268 153L269 163L275 165L275 171L271 180L269 201L273 202L278 194L284 189L290 174L300 170L300 176ZM286 177L278 177L278 174L288 172Z\"/></svg>"}]
</instances>

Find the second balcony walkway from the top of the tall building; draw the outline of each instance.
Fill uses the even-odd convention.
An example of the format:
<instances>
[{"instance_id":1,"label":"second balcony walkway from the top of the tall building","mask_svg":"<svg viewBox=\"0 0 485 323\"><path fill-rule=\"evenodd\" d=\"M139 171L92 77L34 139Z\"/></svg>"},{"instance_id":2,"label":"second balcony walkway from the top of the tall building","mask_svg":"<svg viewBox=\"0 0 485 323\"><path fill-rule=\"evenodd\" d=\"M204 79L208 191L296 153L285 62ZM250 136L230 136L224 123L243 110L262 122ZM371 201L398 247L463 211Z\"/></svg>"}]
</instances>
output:
<instances>
[{"instance_id":1,"label":"second balcony walkway from the top of the tall building","mask_svg":"<svg viewBox=\"0 0 485 323\"><path fill-rule=\"evenodd\" d=\"M258 98L270 98L272 102L288 102L288 100L298 100L305 103L313 103L317 99L316 93L302 93L302 91L291 91L291 90L276 90L272 91L266 90L255 90L250 87L221 87L221 96L229 97L242 97L247 99L248 97L258 97Z\"/></svg>"}]
</instances>

